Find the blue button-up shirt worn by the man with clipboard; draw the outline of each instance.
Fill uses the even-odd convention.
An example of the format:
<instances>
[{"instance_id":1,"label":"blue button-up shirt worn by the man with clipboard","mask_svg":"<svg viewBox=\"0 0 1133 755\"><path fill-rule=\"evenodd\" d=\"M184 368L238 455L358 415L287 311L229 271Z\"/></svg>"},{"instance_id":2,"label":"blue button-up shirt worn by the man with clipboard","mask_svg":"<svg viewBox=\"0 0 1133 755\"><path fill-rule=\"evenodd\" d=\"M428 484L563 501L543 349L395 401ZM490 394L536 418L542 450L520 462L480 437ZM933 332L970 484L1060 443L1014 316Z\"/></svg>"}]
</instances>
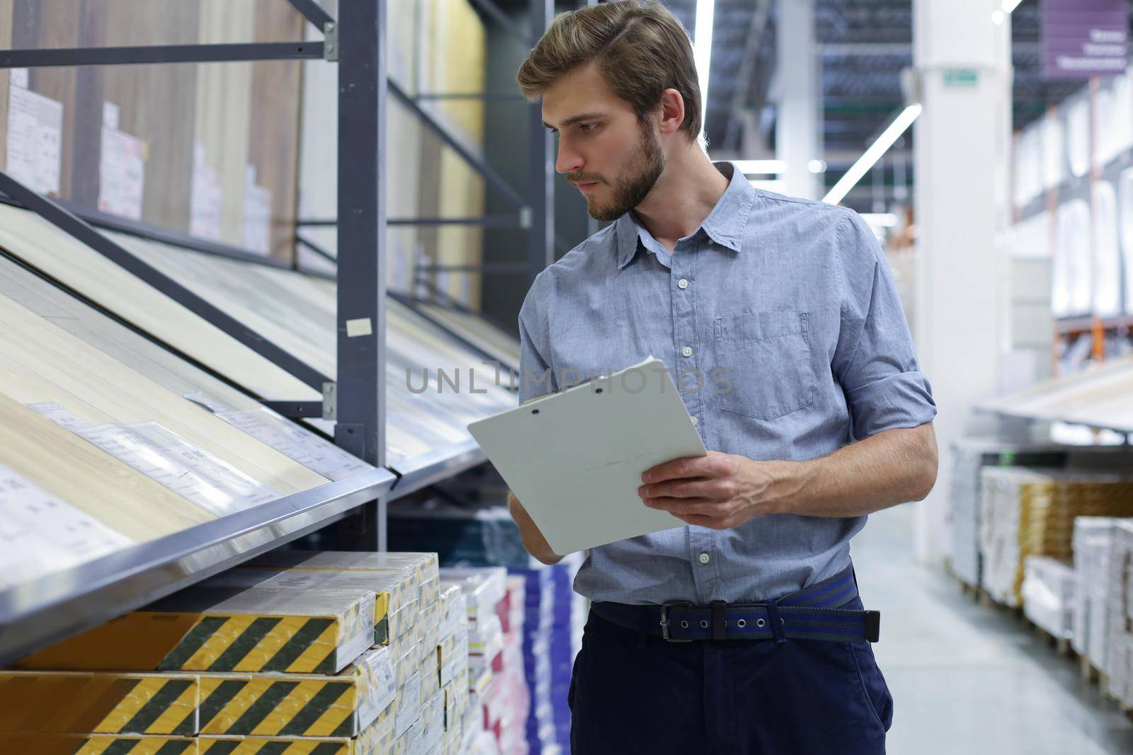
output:
<instances>
[{"instance_id":1,"label":"blue button-up shirt worn by the man with clipboard","mask_svg":"<svg viewBox=\"0 0 1133 755\"><path fill-rule=\"evenodd\" d=\"M802 461L936 415L888 265L854 212L727 189L674 254L627 213L539 273L519 312L520 403L665 361L705 447ZM545 379L542 379L545 378ZM778 598L850 565L864 516L774 514L590 550L595 601Z\"/></svg>"}]
</instances>

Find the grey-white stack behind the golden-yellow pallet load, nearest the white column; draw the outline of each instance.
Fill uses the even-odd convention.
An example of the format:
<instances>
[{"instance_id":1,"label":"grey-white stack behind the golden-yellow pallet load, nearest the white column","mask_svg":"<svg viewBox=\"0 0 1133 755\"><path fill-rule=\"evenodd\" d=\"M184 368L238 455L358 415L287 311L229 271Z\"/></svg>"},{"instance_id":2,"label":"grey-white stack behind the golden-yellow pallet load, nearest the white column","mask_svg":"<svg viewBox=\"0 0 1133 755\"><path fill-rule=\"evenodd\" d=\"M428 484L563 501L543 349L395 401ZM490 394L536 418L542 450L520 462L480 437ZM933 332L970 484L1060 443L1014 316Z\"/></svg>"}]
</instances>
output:
<instances>
[{"instance_id":1,"label":"grey-white stack behind the golden-yellow pallet load, nearest the white column","mask_svg":"<svg viewBox=\"0 0 1133 755\"><path fill-rule=\"evenodd\" d=\"M980 560L980 490L986 466L1062 466L1066 451L1021 446L993 438L963 438L952 444L949 564L961 582L982 586Z\"/></svg>"}]
</instances>

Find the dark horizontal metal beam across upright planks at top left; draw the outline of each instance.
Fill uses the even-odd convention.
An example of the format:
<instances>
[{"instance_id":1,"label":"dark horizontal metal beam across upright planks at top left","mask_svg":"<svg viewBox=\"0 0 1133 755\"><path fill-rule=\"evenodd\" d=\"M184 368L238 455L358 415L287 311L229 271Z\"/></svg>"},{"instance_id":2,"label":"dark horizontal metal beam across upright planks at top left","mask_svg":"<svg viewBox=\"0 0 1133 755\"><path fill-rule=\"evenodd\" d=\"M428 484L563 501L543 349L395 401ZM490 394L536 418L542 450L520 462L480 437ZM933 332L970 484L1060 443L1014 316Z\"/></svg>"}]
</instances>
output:
<instances>
[{"instance_id":1,"label":"dark horizontal metal beam across upright planks at top left","mask_svg":"<svg viewBox=\"0 0 1133 755\"><path fill-rule=\"evenodd\" d=\"M238 42L231 44L145 45L140 48L0 50L0 68L211 63L240 60L322 60L322 42Z\"/></svg>"}]
</instances>

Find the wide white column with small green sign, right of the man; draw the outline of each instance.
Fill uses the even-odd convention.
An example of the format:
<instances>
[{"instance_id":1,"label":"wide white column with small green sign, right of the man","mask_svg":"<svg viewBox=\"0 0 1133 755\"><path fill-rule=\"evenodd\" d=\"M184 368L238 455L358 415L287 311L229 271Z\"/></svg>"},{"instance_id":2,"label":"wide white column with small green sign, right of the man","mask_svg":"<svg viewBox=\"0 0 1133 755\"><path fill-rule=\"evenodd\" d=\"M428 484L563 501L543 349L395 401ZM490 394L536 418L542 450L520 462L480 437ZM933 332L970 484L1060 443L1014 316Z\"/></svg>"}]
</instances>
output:
<instances>
[{"instance_id":1,"label":"wide white column with small green sign, right of the man","mask_svg":"<svg viewBox=\"0 0 1133 755\"><path fill-rule=\"evenodd\" d=\"M914 129L914 338L939 414L940 473L917 506L919 558L946 552L951 444L990 432L972 405L996 392L1007 342L1006 231L1011 20L999 0L913 0L913 62L925 110Z\"/></svg>"}]
</instances>

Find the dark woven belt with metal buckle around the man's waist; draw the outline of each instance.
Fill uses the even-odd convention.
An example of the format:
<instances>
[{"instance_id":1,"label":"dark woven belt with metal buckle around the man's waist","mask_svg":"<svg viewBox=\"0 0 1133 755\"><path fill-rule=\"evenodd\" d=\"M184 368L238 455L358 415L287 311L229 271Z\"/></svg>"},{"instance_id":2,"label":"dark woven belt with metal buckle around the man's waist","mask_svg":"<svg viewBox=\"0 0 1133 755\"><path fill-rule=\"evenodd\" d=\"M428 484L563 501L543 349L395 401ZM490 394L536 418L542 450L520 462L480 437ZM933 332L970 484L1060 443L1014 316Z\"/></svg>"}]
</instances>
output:
<instances>
[{"instance_id":1,"label":"dark woven belt with metal buckle around the man's waist","mask_svg":"<svg viewBox=\"0 0 1133 755\"><path fill-rule=\"evenodd\" d=\"M645 627L670 642L693 640L829 640L877 642L878 611L843 609L858 598L853 568L816 585L761 603L693 606L670 601L662 606L596 602L590 610L627 629Z\"/></svg>"}]
</instances>

